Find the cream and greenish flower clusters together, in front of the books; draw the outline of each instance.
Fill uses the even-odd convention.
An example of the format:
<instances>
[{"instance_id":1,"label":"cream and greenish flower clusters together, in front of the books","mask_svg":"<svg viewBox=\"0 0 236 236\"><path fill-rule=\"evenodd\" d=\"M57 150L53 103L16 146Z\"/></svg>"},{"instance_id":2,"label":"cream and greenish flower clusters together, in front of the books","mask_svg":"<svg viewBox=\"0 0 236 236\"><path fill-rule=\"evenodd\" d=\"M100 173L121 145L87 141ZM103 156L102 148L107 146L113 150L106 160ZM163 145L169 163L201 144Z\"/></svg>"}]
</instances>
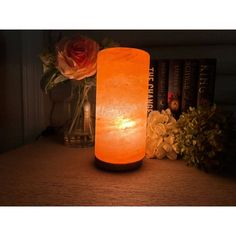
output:
<instances>
[{"instance_id":1,"label":"cream and greenish flower clusters together, in front of the books","mask_svg":"<svg viewBox=\"0 0 236 236\"><path fill-rule=\"evenodd\" d=\"M147 123L146 157L176 160L178 156L187 165L220 171L230 165L234 156L225 154L231 129L230 116L215 105L191 107L177 121L169 109L152 111Z\"/></svg>"}]
</instances>

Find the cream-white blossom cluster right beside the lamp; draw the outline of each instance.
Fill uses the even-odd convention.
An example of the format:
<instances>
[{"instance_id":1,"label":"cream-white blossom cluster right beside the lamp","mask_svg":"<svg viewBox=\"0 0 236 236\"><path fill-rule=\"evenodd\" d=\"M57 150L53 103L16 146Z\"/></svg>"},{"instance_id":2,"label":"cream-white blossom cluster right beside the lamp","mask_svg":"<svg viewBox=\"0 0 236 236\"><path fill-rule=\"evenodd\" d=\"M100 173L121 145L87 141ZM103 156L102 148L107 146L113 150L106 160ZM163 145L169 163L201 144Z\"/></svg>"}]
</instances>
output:
<instances>
[{"instance_id":1,"label":"cream-white blossom cluster right beside the lamp","mask_svg":"<svg viewBox=\"0 0 236 236\"><path fill-rule=\"evenodd\" d=\"M170 109L152 111L147 121L146 157L177 159L177 123Z\"/></svg>"}]
</instances>

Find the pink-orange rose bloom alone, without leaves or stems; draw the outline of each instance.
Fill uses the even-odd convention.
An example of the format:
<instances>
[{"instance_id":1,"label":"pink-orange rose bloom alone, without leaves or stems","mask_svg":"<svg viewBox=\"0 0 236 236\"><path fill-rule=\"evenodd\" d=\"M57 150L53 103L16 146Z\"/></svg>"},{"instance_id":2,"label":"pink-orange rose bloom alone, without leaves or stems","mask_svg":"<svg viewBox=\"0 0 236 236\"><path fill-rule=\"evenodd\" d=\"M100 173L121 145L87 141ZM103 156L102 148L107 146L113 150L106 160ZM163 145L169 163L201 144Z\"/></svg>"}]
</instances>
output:
<instances>
[{"instance_id":1,"label":"pink-orange rose bloom alone, without leaves or stems","mask_svg":"<svg viewBox=\"0 0 236 236\"><path fill-rule=\"evenodd\" d=\"M82 36L62 39L56 50L57 68L65 77L82 80L96 73L99 45L94 40Z\"/></svg>"}]
</instances>

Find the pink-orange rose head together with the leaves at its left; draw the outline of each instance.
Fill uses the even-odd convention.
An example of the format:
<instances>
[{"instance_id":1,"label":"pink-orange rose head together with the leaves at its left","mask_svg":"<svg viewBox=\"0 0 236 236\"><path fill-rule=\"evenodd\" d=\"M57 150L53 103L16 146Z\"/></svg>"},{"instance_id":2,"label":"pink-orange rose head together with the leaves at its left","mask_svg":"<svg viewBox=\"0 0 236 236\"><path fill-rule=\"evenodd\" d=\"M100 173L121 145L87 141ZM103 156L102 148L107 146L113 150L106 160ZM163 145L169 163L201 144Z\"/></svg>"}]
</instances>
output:
<instances>
[{"instance_id":1,"label":"pink-orange rose head together with the leaves at its left","mask_svg":"<svg viewBox=\"0 0 236 236\"><path fill-rule=\"evenodd\" d=\"M47 93L65 80L83 80L96 74L99 44L84 36L63 38L51 51L41 54L41 87Z\"/></svg>"}]
</instances>

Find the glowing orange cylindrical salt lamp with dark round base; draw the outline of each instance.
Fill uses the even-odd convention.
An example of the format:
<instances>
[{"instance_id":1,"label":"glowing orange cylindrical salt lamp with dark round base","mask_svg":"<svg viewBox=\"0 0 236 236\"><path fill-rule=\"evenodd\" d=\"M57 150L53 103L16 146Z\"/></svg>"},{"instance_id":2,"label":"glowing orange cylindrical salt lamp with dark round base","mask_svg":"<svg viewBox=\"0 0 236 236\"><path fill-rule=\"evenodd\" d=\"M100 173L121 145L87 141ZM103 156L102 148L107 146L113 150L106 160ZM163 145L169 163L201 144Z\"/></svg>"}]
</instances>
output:
<instances>
[{"instance_id":1,"label":"glowing orange cylindrical salt lamp with dark round base","mask_svg":"<svg viewBox=\"0 0 236 236\"><path fill-rule=\"evenodd\" d=\"M98 53L95 160L103 168L138 167L145 156L150 56L135 48Z\"/></svg>"}]
</instances>

